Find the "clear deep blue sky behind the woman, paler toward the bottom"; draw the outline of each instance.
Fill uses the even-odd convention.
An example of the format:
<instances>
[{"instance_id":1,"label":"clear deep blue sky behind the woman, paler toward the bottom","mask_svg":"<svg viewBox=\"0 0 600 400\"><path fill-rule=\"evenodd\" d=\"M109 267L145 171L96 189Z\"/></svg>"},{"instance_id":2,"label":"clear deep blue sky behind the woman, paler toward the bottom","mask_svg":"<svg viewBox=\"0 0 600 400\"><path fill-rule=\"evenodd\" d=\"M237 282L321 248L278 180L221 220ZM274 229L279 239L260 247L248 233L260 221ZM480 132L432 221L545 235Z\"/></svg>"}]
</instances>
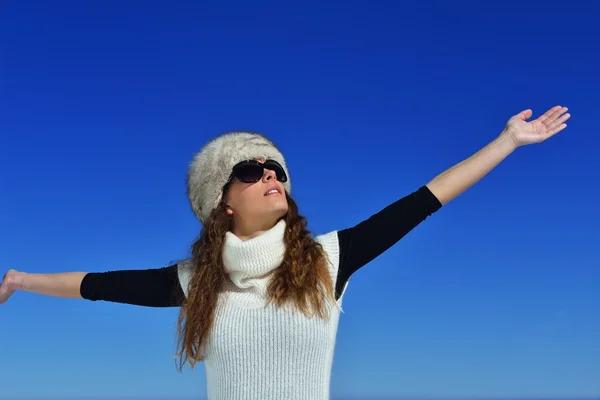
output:
<instances>
[{"instance_id":1,"label":"clear deep blue sky behind the woman, paler toward the bottom","mask_svg":"<svg viewBox=\"0 0 600 400\"><path fill-rule=\"evenodd\" d=\"M200 229L187 165L223 131L279 144L324 233L416 190L522 109L566 105L567 130L352 278L332 391L600 395L599 7L282 3L3 2L0 268L186 257ZM202 397L203 367L180 374L171 359L176 315L17 293L0 306L0 397Z\"/></svg>"}]
</instances>

